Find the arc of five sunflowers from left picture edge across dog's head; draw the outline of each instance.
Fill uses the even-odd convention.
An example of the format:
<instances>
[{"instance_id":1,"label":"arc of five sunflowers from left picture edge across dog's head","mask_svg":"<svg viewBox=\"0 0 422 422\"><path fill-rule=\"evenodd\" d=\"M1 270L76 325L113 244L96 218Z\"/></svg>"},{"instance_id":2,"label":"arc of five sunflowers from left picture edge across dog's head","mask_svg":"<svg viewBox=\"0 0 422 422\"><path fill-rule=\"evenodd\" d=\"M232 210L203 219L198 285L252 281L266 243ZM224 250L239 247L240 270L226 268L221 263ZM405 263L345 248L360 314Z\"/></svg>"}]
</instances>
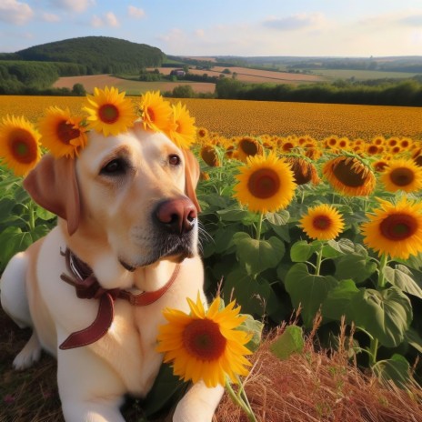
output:
<instances>
[{"instance_id":1,"label":"arc of five sunflowers from left picture edge across dog's head","mask_svg":"<svg viewBox=\"0 0 422 422\"><path fill-rule=\"evenodd\" d=\"M165 133L180 148L189 148L196 139L195 118L186 106L171 105L159 91L146 92L134 104L115 87L95 88L94 95L86 95L82 110L87 116L72 116L68 108L51 106L37 128L23 116L7 115L0 123L0 163L16 176L25 176L41 158L42 146L55 158L75 158L86 145L88 131L116 136L136 121L146 130Z\"/></svg>"}]
</instances>

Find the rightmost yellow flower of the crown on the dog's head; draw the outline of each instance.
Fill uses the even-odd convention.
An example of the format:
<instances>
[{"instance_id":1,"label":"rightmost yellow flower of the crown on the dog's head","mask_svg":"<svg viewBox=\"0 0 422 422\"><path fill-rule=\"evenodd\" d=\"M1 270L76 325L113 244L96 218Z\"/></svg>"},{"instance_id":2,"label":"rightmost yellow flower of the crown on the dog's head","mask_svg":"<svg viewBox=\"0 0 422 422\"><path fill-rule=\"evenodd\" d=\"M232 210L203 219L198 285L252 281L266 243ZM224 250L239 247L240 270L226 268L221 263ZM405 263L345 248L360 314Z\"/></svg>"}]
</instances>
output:
<instances>
[{"instance_id":1,"label":"rightmost yellow flower of the crown on the dog's head","mask_svg":"<svg viewBox=\"0 0 422 422\"><path fill-rule=\"evenodd\" d=\"M188 149L196 141L195 117L191 117L186 106L180 102L172 109L173 122L166 134L176 146Z\"/></svg>"}]
</instances>

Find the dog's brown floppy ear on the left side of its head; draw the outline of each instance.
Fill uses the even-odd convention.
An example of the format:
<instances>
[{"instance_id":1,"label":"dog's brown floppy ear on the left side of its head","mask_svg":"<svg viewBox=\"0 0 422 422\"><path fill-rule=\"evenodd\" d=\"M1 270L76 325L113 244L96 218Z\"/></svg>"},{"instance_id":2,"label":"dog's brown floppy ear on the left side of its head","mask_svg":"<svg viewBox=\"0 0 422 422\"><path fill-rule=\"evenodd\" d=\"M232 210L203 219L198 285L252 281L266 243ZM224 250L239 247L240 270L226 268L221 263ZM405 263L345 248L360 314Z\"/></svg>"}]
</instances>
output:
<instances>
[{"instance_id":1,"label":"dog's brown floppy ear on the left side of its head","mask_svg":"<svg viewBox=\"0 0 422 422\"><path fill-rule=\"evenodd\" d=\"M67 221L70 236L75 233L81 205L74 159L43 156L25 177L24 187L39 206Z\"/></svg>"}]
</instances>

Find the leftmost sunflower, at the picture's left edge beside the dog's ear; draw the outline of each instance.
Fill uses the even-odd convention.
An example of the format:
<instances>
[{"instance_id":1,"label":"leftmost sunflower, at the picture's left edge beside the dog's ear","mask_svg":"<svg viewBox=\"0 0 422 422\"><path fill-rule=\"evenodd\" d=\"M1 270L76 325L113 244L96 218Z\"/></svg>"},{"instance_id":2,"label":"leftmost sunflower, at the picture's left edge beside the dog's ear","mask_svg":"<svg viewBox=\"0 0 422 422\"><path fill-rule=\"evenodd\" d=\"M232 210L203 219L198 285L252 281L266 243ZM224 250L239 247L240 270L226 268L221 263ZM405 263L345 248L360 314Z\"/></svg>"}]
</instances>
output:
<instances>
[{"instance_id":1,"label":"leftmost sunflower, at the picture's left edge beside the dog's ear","mask_svg":"<svg viewBox=\"0 0 422 422\"><path fill-rule=\"evenodd\" d=\"M16 176L25 176L41 158L40 134L24 117L6 116L0 125L0 159Z\"/></svg>"}]
</instances>

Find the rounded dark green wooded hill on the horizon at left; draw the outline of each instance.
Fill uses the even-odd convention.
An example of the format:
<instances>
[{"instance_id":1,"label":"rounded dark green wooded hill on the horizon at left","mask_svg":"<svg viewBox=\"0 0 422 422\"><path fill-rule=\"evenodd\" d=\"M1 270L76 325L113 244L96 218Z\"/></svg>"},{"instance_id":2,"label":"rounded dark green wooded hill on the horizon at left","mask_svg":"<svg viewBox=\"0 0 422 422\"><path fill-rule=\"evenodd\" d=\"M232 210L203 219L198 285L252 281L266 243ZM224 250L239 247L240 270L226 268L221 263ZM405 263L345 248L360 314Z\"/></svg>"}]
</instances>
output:
<instances>
[{"instance_id":1,"label":"rounded dark green wooded hill on the horizon at left","mask_svg":"<svg viewBox=\"0 0 422 422\"><path fill-rule=\"evenodd\" d=\"M2 58L0 56L0 58ZM109 36L85 36L35 45L4 55L4 59L65 62L85 66L85 75L139 72L141 67L158 67L166 55L156 47L131 43Z\"/></svg>"}]
</instances>

